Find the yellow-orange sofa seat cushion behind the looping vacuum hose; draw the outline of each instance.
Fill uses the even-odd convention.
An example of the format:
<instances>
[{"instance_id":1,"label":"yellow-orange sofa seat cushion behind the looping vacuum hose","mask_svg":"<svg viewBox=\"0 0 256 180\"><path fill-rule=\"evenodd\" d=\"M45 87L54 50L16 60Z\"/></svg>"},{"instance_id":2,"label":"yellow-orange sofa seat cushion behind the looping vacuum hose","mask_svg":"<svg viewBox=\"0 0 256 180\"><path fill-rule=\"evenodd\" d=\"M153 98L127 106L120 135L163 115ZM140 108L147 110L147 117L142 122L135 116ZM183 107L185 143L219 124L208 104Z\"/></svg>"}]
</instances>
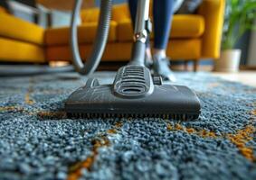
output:
<instances>
[{"instance_id":1,"label":"yellow-orange sofa seat cushion behind the looping vacuum hose","mask_svg":"<svg viewBox=\"0 0 256 180\"><path fill-rule=\"evenodd\" d=\"M95 40L98 23L82 23L78 27L78 40L80 43L92 43ZM110 22L108 41L117 40L117 23ZM70 27L54 28L45 31L47 46L67 45L70 43Z\"/></svg>"}]
</instances>

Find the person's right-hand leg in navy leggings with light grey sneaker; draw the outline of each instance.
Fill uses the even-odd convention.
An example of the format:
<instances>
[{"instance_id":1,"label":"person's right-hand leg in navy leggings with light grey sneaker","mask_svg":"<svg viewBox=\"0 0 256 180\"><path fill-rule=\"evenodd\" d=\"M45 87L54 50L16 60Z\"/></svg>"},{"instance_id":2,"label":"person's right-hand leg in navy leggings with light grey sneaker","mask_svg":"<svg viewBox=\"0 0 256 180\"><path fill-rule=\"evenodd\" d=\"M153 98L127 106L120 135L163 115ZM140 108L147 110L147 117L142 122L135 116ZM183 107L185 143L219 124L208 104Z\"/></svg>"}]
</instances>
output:
<instances>
[{"instance_id":1,"label":"person's right-hand leg in navy leggings with light grey sneaker","mask_svg":"<svg viewBox=\"0 0 256 180\"><path fill-rule=\"evenodd\" d=\"M169 60L166 58L166 47L169 40L173 17L174 0L154 1L154 70L156 74L175 81L175 76L169 68Z\"/></svg>"}]
</instances>

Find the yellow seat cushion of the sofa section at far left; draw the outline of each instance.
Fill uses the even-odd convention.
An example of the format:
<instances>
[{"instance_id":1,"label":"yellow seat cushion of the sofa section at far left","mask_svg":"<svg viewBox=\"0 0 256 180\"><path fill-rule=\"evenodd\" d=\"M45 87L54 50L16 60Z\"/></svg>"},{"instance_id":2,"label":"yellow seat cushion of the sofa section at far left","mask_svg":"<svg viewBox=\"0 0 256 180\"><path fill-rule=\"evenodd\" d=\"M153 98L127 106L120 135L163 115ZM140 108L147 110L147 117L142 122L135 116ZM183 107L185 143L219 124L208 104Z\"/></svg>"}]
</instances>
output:
<instances>
[{"instance_id":1,"label":"yellow seat cushion of the sofa section at far left","mask_svg":"<svg viewBox=\"0 0 256 180\"><path fill-rule=\"evenodd\" d=\"M0 37L43 45L43 28L10 14L0 14Z\"/></svg>"}]
</instances>

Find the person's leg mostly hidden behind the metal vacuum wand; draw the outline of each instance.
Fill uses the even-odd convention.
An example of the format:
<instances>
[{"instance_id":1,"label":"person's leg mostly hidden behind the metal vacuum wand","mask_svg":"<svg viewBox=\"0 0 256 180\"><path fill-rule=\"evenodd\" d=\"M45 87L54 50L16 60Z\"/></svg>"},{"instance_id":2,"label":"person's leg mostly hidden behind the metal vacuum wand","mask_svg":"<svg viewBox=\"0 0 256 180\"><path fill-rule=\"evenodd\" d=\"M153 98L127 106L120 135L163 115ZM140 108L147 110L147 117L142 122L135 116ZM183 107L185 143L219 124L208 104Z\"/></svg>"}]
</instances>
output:
<instances>
[{"instance_id":1,"label":"person's leg mostly hidden behind the metal vacuum wand","mask_svg":"<svg viewBox=\"0 0 256 180\"><path fill-rule=\"evenodd\" d=\"M129 12L133 24L133 28L135 27L136 14L137 14L137 0L128 0ZM147 67L152 65L152 55L150 49L149 38L147 38L147 49L146 49L146 65Z\"/></svg>"}]
</instances>

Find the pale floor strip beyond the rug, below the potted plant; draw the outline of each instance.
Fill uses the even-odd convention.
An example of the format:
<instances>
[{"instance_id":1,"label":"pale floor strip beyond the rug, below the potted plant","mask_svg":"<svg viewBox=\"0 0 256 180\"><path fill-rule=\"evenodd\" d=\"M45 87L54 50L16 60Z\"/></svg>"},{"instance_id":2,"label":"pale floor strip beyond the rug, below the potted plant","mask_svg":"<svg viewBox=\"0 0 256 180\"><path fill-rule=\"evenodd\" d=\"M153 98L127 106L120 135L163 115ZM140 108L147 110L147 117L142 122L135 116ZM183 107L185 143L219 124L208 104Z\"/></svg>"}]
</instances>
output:
<instances>
[{"instance_id":1,"label":"pale floor strip beyond the rug, below the potted plant","mask_svg":"<svg viewBox=\"0 0 256 180\"><path fill-rule=\"evenodd\" d=\"M256 71L240 71L237 73L213 72L213 76L219 76L228 81L240 82L244 85L256 87Z\"/></svg>"}]
</instances>

